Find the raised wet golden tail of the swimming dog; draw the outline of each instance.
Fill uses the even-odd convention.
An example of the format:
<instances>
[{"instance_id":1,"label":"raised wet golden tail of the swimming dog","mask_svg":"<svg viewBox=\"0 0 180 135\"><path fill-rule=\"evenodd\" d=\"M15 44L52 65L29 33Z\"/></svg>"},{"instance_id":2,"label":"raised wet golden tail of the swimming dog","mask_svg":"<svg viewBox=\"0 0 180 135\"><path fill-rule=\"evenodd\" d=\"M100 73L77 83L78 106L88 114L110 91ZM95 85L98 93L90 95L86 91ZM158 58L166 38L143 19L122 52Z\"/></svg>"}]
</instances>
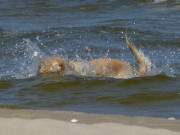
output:
<instances>
[{"instance_id":1,"label":"raised wet golden tail of the swimming dog","mask_svg":"<svg viewBox=\"0 0 180 135\"><path fill-rule=\"evenodd\" d=\"M138 64L138 75L144 76L147 72L151 70L152 63L151 60L144 55L141 50L138 50L135 45L130 41L130 39L125 35L126 44L131 50L131 53L136 59Z\"/></svg>"}]
</instances>

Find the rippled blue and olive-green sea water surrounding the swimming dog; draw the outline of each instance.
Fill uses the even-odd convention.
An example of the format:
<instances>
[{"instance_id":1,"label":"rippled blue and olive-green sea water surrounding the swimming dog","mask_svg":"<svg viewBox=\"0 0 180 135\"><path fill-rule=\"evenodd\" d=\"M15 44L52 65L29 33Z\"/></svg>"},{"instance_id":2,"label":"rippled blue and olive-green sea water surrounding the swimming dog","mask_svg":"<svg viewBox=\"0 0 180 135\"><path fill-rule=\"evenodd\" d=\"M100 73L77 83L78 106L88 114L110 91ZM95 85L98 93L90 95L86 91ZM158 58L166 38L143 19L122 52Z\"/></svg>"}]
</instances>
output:
<instances>
[{"instance_id":1,"label":"rippled blue and olive-green sea water surrounding the swimming dog","mask_svg":"<svg viewBox=\"0 0 180 135\"><path fill-rule=\"evenodd\" d=\"M38 74L54 55L136 68L125 34L153 63L149 76ZM0 0L0 107L180 118L180 2Z\"/></svg>"}]
</instances>

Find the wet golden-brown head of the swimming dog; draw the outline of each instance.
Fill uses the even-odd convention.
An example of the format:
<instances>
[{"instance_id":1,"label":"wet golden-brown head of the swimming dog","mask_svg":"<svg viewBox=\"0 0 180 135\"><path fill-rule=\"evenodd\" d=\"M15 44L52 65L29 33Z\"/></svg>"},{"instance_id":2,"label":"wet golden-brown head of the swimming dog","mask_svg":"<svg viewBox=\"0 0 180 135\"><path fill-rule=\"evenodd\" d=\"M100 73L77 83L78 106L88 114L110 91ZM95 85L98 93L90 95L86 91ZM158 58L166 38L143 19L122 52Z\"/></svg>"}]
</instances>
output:
<instances>
[{"instance_id":1,"label":"wet golden-brown head of the swimming dog","mask_svg":"<svg viewBox=\"0 0 180 135\"><path fill-rule=\"evenodd\" d=\"M40 62L39 73L63 73L65 61L60 57L49 57Z\"/></svg>"}]
</instances>

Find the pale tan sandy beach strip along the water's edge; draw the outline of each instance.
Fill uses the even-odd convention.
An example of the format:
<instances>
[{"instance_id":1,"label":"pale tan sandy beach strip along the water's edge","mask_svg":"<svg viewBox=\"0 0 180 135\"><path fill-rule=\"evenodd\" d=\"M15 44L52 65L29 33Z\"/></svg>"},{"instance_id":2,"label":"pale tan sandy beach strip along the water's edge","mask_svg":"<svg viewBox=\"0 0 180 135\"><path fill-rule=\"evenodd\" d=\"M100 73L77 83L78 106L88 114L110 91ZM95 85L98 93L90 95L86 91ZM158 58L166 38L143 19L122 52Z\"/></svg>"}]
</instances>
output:
<instances>
[{"instance_id":1,"label":"pale tan sandy beach strip along the water's edge","mask_svg":"<svg viewBox=\"0 0 180 135\"><path fill-rule=\"evenodd\" d=\"M161 118L0 109L0 121L2 135L180 135L180 120Z\"/></svg>"}]
</instances>

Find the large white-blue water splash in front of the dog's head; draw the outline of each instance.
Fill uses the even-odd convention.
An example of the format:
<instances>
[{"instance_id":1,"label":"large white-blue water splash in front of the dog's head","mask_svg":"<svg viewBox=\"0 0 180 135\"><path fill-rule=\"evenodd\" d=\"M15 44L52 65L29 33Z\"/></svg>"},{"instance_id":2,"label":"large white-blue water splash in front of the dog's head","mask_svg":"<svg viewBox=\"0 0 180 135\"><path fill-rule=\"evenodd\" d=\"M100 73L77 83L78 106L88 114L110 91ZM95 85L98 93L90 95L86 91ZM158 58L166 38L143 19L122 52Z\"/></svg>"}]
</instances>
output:
<instances>
[{"instance_id":1,"label":"large white-blue water splash in front of the dog's head","mask_svg":"<svg viewBox=\"0 0 180 135\"><path fill-rule=\"evenodd\" d=\"M24 79L37 75L39 59L43 53L30 39L23 39L9 48L7 53L12 53L14 57L7 56L0 61L1 79Z\"/></svg>"}]
</instances>

